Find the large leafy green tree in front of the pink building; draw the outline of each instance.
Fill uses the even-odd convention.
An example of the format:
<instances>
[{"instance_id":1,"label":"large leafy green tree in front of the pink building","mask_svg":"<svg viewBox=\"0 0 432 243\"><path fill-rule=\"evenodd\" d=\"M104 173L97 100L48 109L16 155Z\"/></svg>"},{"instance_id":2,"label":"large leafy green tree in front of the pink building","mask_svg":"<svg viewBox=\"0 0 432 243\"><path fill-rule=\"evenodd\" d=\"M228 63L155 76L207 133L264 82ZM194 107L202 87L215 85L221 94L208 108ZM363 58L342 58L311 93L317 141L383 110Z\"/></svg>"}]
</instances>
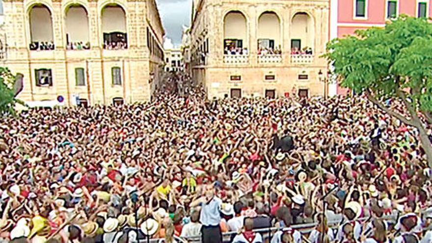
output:
<instances>
[{"instance_id":1,"label":"large leafy green tree in front of the pink building","mask_svg":"<svg viewBox=\"0 0 432 243\"><path fill-rule=\"evenodd\" d=\"M355 36L330 41L324 57L341 86L364 92L380 109L417 128L432 167L427 134L432 125L432 24L402 15L384 28L358 30ZM385 106L382 101L389 98L405 108Z\"/></svg>"}]
</instances>

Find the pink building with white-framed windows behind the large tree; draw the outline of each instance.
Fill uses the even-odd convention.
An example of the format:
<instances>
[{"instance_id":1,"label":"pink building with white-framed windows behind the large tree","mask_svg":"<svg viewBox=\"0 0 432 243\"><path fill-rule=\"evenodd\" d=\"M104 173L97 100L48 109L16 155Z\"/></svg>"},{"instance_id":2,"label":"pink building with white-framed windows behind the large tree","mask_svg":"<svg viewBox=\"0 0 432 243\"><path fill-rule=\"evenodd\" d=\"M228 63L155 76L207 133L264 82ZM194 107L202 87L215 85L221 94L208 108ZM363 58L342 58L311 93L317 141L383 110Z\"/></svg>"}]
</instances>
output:
<instances>
[{"instance_id":1,"label":"pink building with white-framed windows behind the large tree","mask_svg":"<svg viewBox=\"0 0 432 243\"><path fill-rule=\"evenodd\" d=\"M430 0L330 0L330 39L343 38L356 29L384 27L385 22L406 14L431 17ZM330 94L347 90L333 85Z\"/></svg>"}]
</instances>

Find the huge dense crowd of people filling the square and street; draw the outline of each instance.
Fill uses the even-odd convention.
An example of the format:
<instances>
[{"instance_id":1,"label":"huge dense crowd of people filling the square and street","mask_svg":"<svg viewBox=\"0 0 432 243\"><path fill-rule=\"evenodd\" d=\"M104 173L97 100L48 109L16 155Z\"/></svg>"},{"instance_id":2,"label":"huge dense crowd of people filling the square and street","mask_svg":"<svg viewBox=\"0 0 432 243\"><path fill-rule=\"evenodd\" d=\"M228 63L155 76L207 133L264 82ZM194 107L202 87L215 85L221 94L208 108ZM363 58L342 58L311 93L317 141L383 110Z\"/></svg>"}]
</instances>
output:
<instances>
[{"instance_id":1,"label":"huge dense crowd of people filling the square and street","mask_svg":"<svg viewBox=\"0 0 432 243\"><path fill-rule=\"evenodd\" d=\"M2 118L0 242L432 241L415 129L362 96L208 100L177 79L149 103Z\"/></svg>"}]
</instances>

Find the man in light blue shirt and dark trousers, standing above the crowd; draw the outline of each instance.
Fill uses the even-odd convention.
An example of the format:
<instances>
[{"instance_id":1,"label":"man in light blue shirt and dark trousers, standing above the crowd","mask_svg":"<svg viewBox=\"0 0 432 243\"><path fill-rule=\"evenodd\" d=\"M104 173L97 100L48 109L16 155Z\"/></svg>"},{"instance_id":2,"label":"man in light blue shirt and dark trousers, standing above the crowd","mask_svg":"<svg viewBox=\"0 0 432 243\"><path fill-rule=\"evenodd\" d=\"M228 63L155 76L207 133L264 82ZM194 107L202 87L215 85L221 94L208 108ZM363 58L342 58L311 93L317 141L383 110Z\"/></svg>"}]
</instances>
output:
<instances>
[{"instance_id":1,"label":"man in light blue shirt and dark trousers, standing above the crowd","mask_svg":"<svg viewBox=\"0 0 432 243\"><path fill-rule=\"evenodd\" d=\"M206 186L204 196L190 203L190 207L196 206L201 206L199 220L202 224L202 243L221 243L220 210L222 208L222 200L216 197L213 185Z\"/></svg>"}]
</instances>

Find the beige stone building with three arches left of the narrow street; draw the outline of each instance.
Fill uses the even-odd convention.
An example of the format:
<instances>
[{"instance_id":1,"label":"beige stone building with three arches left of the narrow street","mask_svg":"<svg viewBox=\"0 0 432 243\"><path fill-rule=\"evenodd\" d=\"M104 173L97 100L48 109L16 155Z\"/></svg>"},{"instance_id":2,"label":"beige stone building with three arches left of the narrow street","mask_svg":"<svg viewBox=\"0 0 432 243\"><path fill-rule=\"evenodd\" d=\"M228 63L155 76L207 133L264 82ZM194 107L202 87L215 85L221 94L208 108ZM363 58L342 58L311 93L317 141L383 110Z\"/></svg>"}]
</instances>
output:
<instances>
[{"instance_id":1,"label":"beige stone building with three arches left of the narrow street","mask_svg":"<svg viewBox=\"0 0 432 243\"><path fill-rule=\"evenodd\" d=\"M3 0L3 11L0 65L24 75L30 106L147 101L162 76L155 0Z\"/></svg>"}]
</instances>

